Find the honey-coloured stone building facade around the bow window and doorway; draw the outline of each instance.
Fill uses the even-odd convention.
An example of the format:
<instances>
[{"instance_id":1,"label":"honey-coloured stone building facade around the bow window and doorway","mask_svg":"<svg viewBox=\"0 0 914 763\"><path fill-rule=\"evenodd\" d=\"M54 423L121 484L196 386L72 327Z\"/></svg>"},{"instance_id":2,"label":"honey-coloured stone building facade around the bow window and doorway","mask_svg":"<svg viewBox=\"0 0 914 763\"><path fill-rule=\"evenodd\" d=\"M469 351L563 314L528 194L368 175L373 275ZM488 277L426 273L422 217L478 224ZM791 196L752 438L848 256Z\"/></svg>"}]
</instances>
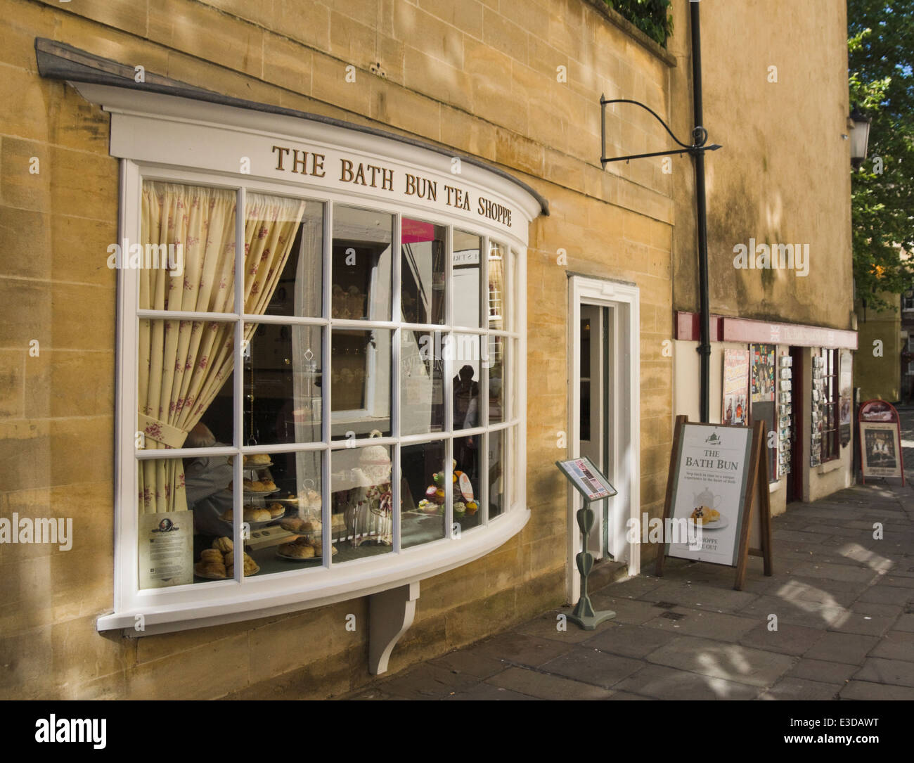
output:
<instances>
[{"instance_id":1,"label":"honey-coloured stone building facade around the bow window and doorway","mask_svg":"<svg viewBox=\"0 0 914 763\"><path fill-rule=\"evenodd\" d=\"M69 517L73 530L68 550L0 545L7 605L0 694L320 698L368 684L367 666L377 665L369 622L371 612L381 611L373 609L381 606L380 583L366 583L360 595L331 595L327 578L323 599L302 593L296 603L283 589L286 598L280 604L276 594L270 609L238 605L206 621L181 619L172 605L163 605L147 618L148 631L128 627L140 612L117 604L130 582L118 577L127 553L119 544L136 514L119 487L136 468L122 455L124 443L133 441L133 422L119 419L119 406L124 374L135 363L119 356L125 326L133 323L123 318L118 282L124 276L108 266L109 247L122 239L132 214L122 203L131 177L124 166L133 161L124 156L135 151L141 170L155 165L169 177L186 169L177 160L150 160L160 150L155 146L124 148L133 134L154 143L154 131L141 127L128 135L118 125L154 120L152 103L163 113L176 103L177 115L182 103L195 101L194 89L218 96L197 92L212 116L207 122L194 112L187 117L194 125L216 129L228 115L237 120L233 129L273 143L271 113L283 125L337 131L349 136L345 140L355 135L357 141L368 134L358 132L365 128L379 130L383 134L370 139L377 145L404 145L407 154L414 149L425 157L423 166L439 162L442 175L452 158L462 159L478 167L473 172L480 185L491 183L505 198L519 199L511 223L519 232L505 240L516 252L512 300L515 327L523 332L507 336L516 347L510 367L517 376L505 382L505 406L526 406L515 411L520 423L506 446L523 484L512 488L516 511L494 517L490 510L490 524L466 536L485 538L507 522L516 530L497 547L465 559L442 550L456 556L441 568L429 551L422 557L431 559L423 561L424 572L396 580L389 573L388 588L396 582L397 590L408 589L400 609L413 607L414 616L402 617L409 628L391 641L396 647L388 651L388 670L574 597L574 504L554 462L583 452L586 396L569 380L583 378L575 365L584 352L583 333L596 332L600 321L604 339L615 337L615 344L604 344L612 353L604 359L619 364L611 376L616 397L608 405L612 420L621 422L605 434L601 455L611 461L623 494L604 523L603 540L594 540L600 556L612 554L635 573L651 558L650 549L625 544L619 529L630 516L662 513L674 415L690 412L695 398L694 350L676 334L676 311L696 309L693 179L687 159L674 160L672 174L660 160L603 170L600 94L643 101L677 134L690 132L688 3L675 0L668 49L599 2L583 0L2 5L7 23L0 33L0 87L15 108L0 115L6 252L0 265L0 516ZM802 280L784 273L753 280L729 265L715 267L712 312L849 330L849 157L840 140L847 112L845 18L823 19L778 3L792 18L785 32L771 22L777 14L767 6L703 5L709 6L703 29L706 122L712 140L725 145L708 161L712 261L729 263L733 246L749 237L811 245L810 274ZM815 26L822 23L827 34ZM747 41L735 29L757 31ZM813 52L797 43L810 35L821 42ZM56 73L39 73L37 46L59 65ZM778 84L766 82L769 63L779 67ZM163 100L105 102L120 92L145 99L143 83L155 84L154 96ZM146 116L134 117L132 109ZM246 122L246 110L257 122ZM609 155L664 146L664 132L646 113L617 107L608 124ZM293 129L275 128L282 135ZM216 166L218 146L212 152L207 182L248 182L243 170ZM377 160L384 161L383 155ZM814 166L814 177L798 170L803 166ZM252 172L261 185L268 177L281 182L271 167ZM336 203L337 191L326 197ZM353 198L368 204L369 196ZM522 207L528 224L517 211ZM459 217L441 216L451 221L452 237ZM481 220L487 226L481 235L497 238L492 231L504 222ZM582 307L601 312L587 317ZM802 363L808 352L805 357ZM609 380L603 379L604 389ZM385 447L393 453L405 446ZM807 478L807 500L844 486L843 456L840 462L827 479ZM324 493L324 500L329 497ZM329 525L330 515L324 519ZM434 548L463 542L446 533ZM607 561L604 568L610 567Z\"/></svg>"}]
</instances>

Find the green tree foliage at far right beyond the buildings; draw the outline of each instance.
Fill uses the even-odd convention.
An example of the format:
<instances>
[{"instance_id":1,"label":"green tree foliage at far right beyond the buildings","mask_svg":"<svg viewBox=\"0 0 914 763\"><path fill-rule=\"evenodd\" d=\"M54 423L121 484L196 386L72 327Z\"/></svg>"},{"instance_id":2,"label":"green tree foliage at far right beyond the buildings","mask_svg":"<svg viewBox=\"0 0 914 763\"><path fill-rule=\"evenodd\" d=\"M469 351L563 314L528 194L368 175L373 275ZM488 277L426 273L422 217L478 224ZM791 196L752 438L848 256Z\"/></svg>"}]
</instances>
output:
<instances>
[{"instance_id":1,"label":"green tree foliage at far right beyond the buildings","mask_svg":"<svg viewBox=\"0 0 914 763\"><path fill-rule=\"evenodd\" d=\"M882 310L879 292L914 288L914 0L848 0L847 25L852 108L873 118L851 183L856 298Z\"/></svg>"}]
</instances>

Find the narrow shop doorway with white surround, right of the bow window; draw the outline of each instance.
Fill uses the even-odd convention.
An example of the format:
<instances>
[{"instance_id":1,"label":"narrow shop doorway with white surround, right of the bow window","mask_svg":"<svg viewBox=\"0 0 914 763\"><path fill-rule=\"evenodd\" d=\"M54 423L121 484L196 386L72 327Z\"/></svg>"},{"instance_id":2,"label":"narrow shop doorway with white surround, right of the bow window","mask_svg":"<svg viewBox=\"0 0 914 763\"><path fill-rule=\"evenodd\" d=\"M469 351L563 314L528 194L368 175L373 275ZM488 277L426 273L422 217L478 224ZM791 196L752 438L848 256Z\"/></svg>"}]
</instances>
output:
<instances>
[{"instance_id":1,"label":"narrow shop doorway with white surround, right of the bow window","mask_svg":"<svg viewBox=\"0 0 914 763\"><path fill-rule=\"evenodd\" d=\"M598 559L627 562L637 574L639 548L627 542L626 530L640 511L638 289L581 276L570 281L569 456L589 457L619 491L592 504L597 519L588 549ZM579 596L580 507L569 488L569 601Z\"/></svg>"}]
</instances>

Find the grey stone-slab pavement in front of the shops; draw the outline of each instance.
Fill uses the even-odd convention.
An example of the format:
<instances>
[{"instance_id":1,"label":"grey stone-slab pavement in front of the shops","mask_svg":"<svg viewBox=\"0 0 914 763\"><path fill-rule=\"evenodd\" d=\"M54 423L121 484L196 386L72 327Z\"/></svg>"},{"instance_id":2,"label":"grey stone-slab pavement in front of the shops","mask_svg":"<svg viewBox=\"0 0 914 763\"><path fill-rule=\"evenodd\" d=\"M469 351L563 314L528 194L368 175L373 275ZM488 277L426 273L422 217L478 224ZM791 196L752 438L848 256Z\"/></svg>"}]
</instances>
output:
<instances>
[{"instance_id":1,"label":"grey stone-slab pavement in front of the shops","mask_svg":"<svg viewBox=\"0 0 914 763\"><path fill-rule=\"evenodd\" d=\"M669 559L594 593L617 612L596 631L558 631L555 609L345 698L914 699L914 490L894 482L792 503L774 576L749 556L742 591L731 567Z\"/></svg>"}]
</instances>

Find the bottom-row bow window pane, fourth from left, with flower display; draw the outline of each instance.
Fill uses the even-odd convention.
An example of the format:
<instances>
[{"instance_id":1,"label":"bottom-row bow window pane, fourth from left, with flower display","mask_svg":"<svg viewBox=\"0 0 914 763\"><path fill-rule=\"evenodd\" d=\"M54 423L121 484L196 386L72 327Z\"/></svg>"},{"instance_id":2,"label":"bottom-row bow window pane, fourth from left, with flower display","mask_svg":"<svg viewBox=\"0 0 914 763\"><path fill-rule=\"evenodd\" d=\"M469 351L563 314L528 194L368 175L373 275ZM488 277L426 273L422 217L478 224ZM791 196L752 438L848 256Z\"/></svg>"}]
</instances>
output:
<instances>
[{"instance_id":1,"label":"bottom-row bow window pane, fourth from left, with flower display","mask_svg":"<svg viewBox=\"0 0 914 763\"><path fill-rule=\"evenodd\" d=\"M404 548L444 537L444 489L451 470L443 467L444 442L404 445L400 449L400 529ZM455 492L454 501L457 500ZM461 503L460 508L465 513L465 504ZM459 521L456 511L454 521Z\"/></svg>"}]
</instances>

